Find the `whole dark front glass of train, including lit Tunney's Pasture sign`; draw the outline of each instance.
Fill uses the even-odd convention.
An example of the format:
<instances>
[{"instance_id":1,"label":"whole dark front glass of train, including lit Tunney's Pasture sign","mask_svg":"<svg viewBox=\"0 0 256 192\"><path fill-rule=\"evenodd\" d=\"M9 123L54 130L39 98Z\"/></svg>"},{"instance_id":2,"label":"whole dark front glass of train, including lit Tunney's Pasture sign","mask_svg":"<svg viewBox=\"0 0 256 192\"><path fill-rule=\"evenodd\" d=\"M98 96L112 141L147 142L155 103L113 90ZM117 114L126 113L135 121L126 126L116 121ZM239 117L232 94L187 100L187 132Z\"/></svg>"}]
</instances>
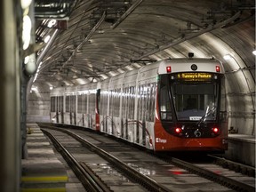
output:
<instances>
[{"instance_id":1,"label":"whole dark front glass of train, including lit Tunney's Pasture sign","mask_svg":"<svg viewBox=\"0 0 256 192\"><path fill-rule=\"evenodd\" d=\"M220 90L218 82L217 76L210 73L162 76L159 98L161 119L215 121Z\"/></svg>"}]
</instances>

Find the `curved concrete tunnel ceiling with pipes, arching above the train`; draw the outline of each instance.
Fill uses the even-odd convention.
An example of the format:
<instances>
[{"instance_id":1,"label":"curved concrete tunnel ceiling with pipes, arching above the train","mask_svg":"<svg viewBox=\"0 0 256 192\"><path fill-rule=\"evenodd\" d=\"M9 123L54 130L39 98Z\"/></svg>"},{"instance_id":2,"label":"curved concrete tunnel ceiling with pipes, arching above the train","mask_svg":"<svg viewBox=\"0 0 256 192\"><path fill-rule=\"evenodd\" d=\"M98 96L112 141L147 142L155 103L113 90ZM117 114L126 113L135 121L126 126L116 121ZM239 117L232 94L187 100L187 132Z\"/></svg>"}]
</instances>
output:
<instances>
[{"instance_id":1,"label":"curved concrete tunnel ceiling with pipes, arching above the train","mask_svg":"<svg viewBox=\"0 0 256 192\"><path fill-rule=\"evenodd\" d=\"M35 15L36 44L51 38L34 84L86 84L194 52L221 60L230 86L244 82L230 92L253 92L254 0L38 0Z\"/></svg>"}]
</instances>

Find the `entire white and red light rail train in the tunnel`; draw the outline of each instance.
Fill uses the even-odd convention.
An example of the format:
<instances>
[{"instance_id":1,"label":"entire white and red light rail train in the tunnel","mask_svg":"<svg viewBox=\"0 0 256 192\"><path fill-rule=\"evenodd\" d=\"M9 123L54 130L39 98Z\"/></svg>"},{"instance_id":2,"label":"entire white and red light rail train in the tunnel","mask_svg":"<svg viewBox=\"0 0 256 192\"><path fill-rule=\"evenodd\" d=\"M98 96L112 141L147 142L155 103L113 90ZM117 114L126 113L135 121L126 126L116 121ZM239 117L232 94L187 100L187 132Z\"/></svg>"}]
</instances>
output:
<instances>
[{"instance_id":1,"label":"entire white and red light rail train in the tunnel","mask_svg":"<svg viewBox=\"0 0 256 192\"><path fill-rule=\"evenodd\" d=\"M51 119L155 151L224 152L224 69L213 58L168 59L99 83L58 87L51 92Z\"/></svg>"}]
</instances>

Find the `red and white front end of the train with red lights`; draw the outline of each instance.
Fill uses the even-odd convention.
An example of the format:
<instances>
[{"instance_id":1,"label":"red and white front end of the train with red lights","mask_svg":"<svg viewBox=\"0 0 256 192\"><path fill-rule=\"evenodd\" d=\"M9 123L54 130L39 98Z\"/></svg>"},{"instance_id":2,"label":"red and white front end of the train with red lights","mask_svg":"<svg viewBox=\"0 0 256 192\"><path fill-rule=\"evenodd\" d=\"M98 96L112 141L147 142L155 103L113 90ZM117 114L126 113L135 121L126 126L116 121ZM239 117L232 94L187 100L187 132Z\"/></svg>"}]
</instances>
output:
<instances>
[{"instance_id":1,"label":"red and white front end of the train with red lights","mask_svg":"<svg viewBox=\"0 0 256 192\"><path fill-rule=\"evenodd\" d=\"M169 60L160 64L158 73L155 150L227 150L220 61Z\"/></svg>"}]
</instances>

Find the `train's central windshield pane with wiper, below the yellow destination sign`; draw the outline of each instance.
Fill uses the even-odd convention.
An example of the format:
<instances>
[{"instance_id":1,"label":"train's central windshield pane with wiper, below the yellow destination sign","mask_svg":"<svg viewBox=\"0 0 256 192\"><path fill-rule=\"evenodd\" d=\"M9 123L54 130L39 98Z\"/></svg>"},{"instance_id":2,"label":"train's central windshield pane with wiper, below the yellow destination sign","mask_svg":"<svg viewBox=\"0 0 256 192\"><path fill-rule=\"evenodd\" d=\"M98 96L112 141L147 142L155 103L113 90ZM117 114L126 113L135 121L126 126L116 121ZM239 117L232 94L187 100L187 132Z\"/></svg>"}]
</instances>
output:
<instances>
[{"instance_id":1,"label":"train's central windshield pane with wiper, below the yellow destination sign","mask_svg":"<svg viewBox=\"0 0 256 192\"><path fill-rule=\"evenodd\" d=\"M173 83L172 100L177 120L216 119L217 85L214 83Z\"/></svg>"}]
</instances>

